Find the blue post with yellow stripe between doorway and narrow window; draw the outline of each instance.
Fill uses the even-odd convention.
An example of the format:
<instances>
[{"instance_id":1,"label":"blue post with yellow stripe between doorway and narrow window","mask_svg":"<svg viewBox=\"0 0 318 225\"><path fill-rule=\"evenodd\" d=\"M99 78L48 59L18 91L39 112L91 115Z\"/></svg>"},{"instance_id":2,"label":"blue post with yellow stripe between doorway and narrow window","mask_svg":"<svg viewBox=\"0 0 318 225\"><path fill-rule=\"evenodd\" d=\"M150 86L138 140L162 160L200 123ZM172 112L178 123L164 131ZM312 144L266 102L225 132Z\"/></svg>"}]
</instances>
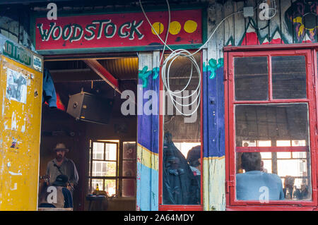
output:
<instances>
[{"instance_id":1,"label":"blue post with yellow stripe between doorway and narrow window","mask_svg":"<svg viewBox=\"0 0 318 225\"><path fill-rule=\"evenodd\" d=\"M159 95L159 51L139 54L139 71L151 71L147 76L139 75L139 85L143 85L143 93L154 90ZM140 86L139 86L140 87ZM139 99L139 106L143 106L149 99ZM142 104L141 104L142 102ZM137 210L158 210L158 150L159 150L159 120L156 115L144 115L139 109L137 122ZM140 114L141 113L141 114Z\"/></svg>"}]
</instances>

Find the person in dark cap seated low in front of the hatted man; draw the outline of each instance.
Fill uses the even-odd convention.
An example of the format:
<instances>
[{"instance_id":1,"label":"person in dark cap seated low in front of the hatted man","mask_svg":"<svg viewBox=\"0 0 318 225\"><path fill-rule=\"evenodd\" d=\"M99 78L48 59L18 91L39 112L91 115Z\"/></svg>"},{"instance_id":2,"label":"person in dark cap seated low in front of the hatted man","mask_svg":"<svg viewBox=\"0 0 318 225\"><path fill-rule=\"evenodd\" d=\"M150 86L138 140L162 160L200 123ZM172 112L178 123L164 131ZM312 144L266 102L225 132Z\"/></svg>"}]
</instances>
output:
<instances>
[{"instance_id":1,"label":"person in dark cap seated low in front of the hatted man","mask_svg":"<svg viewBox=\"0 0 318 225\"><path fill-rule=\"evenodd\" d=\"M69 177L61 174L40 195L39 207L72 208L71 191L66 188Z\"/></svg>"}]
</instances>

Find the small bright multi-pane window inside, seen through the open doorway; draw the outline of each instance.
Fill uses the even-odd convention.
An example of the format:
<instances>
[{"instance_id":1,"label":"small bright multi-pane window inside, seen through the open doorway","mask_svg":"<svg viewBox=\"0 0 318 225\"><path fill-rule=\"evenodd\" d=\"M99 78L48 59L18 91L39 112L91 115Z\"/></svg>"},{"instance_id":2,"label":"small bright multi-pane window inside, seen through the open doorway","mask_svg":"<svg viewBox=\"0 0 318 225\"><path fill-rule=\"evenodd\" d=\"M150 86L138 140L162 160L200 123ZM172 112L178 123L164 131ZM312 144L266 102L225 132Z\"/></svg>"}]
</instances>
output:
<instances>
[{"instance_id":1,"label":"small bright multi-pane window inside, seen through the open doorway","mask_svg":"<svg viewBox=\"0 0 318 225\"><path fill-rule=\"evenodd\" d=\"M105 190L109 196L136 196L136 142L91 141L90 189Z\"/></svg>"}]
</instances>

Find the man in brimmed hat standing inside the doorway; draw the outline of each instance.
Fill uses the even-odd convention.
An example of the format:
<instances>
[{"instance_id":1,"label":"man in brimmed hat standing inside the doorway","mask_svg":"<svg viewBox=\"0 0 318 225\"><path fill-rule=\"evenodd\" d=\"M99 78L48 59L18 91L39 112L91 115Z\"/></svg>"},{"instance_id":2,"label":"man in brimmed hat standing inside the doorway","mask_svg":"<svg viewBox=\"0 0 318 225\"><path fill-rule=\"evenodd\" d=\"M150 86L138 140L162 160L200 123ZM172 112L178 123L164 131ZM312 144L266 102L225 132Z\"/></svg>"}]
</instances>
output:
<instances>
[{"instance_id":1,"label":"man in brimmed hat standing inside the doorway","mask_svg":"<svg viewBox=\"0 0 318 225\"><path fill-rule=\"evenodd\" d=\"M47 175L49 176L49 183L47 185L54 182L57 176L61 174L66 175L69 178L69 185L67 188L71 190L71 193L73 194L74 187L78 183L78 172L73 161L65 157L66 152L69 152L69 150L64 143L58 143L54 148L54 151L57 156L47 164Z\"/></svg>"}]
</instances>

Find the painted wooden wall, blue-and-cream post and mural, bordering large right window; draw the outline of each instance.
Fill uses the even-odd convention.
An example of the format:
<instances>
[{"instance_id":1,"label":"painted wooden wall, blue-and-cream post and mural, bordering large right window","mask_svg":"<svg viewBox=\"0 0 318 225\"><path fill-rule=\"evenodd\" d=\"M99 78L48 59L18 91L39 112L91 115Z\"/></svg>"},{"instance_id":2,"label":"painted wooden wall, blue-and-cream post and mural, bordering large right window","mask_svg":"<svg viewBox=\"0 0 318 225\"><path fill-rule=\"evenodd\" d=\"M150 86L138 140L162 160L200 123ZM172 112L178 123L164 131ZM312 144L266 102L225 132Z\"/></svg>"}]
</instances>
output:
<instances>
[{"instance_id":1,"label":"painted wooden wall, blue-and-cream post and mural, bordering large right window","mask_svg":"<svg viewBox=\"0 0 318 225\"><path fill-rule=\"evenodd\" d=\"M275 2L276 15L269 21L259 19L261 1L208 2L208 37L223 18L244 6L254 6L255 11L251 18L233 14L208 42L204 59L204 210L225 210L223 47L317 42L317 1Z\"/></svg>"}]
</instances>

